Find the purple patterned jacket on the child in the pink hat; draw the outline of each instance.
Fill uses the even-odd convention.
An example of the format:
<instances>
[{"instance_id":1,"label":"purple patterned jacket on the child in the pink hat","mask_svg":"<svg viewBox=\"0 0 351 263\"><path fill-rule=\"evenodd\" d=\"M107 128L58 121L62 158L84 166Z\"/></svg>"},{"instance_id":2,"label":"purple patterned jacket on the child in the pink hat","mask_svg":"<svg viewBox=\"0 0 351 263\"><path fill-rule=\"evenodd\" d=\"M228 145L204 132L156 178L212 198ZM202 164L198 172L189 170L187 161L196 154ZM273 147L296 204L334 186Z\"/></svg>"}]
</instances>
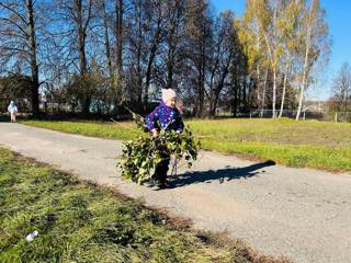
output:
<instances>
[{"instance_id":1,"label":"purple patterned jacket on the child in the pink hat","mask_svg":"<svg viewBox=\"0 0 351 263\"><path fill-rule=\"evenodd\" d=\"M159 127L157 121L159 121L159 125L161 127ZM161 128L181 133L184 128L184 124L178 108L167 106L163 102L161 102L154 112L146 116L145 124L149 130L154 128Z\"/></svg>"}]
</instances>

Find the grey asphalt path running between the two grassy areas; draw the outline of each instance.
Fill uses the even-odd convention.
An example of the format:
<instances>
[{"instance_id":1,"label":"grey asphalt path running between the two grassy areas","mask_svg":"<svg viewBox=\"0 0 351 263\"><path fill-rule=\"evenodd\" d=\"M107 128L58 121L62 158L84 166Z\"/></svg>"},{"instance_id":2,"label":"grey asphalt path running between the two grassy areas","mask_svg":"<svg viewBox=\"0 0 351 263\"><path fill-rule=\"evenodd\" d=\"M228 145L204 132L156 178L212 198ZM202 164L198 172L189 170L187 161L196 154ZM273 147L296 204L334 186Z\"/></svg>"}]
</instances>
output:
<instances>
[{"instance_id":1,"label":"grey asphalt path running between the two grassy areas","mask_svg":"<svg viewBox=\"0 0 351 263\"><path fill-rule=\"evenodd\" d=\"M193 219L196 228L226 230L265 254L306 263L351 259L350 173L201 152L191 171L178 171L174 188L155 191L120 178L121 141L0 123L0 146L143 197L147 205Z\"/></svg>"}]
</instances>

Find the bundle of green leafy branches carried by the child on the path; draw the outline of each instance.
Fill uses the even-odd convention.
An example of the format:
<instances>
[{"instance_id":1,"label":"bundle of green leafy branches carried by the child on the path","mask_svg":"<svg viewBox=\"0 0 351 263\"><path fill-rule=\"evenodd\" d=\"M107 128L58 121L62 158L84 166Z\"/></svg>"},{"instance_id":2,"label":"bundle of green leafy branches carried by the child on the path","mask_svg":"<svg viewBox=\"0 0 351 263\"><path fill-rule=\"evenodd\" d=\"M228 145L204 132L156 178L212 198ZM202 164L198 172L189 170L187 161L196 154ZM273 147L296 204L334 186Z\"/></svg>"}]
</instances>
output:
<instances>
[{"instance_id":1,"label":"bundle of green leafy branches carried by the child on the path","mask_svg":"<svg viewBox=\"0 0 351 263\"><path fill-rule=\"evenodd\" d=\"M144 125L144 118L138 114L132 114L138 128L148 133ZM157 138L139 136L135 140L124 141L118 167L125 179L140 184L151 178L157 164L162 161L165 156L173 156L176 165L180 160L185 160L188 167L191 168L192 161L197 158L199 146L191 130L186 127L181 134L162 129Z\"/></svg>"}]
</instances>

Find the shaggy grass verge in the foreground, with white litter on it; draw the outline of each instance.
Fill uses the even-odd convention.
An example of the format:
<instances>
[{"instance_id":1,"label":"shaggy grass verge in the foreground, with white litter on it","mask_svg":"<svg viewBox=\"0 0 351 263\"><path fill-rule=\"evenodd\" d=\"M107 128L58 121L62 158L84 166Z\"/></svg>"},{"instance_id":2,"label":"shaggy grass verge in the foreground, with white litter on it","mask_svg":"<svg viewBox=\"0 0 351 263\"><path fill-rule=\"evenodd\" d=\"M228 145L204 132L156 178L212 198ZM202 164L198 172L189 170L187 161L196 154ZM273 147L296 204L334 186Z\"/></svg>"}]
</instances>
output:
<instances>
[{"instance_id":1,"label":"shaggy grass verge in the foreground, with white litter on it","mask_svg":"<svg viewBox=\"0 0 351 263\"><path fill-rule=\"evenodd\" d=\"M0 148L0 262L285 262L170 221Z\"/></svg>"}]
</instances>

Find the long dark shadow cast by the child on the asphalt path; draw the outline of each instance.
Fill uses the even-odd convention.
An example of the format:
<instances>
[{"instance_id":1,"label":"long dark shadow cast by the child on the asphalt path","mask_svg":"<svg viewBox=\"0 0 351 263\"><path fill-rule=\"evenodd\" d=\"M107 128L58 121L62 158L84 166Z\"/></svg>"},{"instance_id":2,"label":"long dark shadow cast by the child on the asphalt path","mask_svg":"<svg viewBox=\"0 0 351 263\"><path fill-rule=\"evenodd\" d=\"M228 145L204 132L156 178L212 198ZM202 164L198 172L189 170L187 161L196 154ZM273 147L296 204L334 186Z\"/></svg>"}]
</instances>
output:
<instances>
[{"instance_id":1,"label":"long dark shadow cast by the child on the asphalt path","mask_svg":"<svg viewBox=\"0 0 351 263\"><path fill-rule=\"evenodd\" d=\"M272 165L275 165L275 162L269 160L244 168L227 168L203 172L189 172L173 179L171 184L172 187L181 187L195 183L211 183L214 180L219 180L219 183L223 183L225 181L231 181L235 179L248 179L258 174L260 172L258 171L259 169Z\"/></svg>"}]
</instances>

